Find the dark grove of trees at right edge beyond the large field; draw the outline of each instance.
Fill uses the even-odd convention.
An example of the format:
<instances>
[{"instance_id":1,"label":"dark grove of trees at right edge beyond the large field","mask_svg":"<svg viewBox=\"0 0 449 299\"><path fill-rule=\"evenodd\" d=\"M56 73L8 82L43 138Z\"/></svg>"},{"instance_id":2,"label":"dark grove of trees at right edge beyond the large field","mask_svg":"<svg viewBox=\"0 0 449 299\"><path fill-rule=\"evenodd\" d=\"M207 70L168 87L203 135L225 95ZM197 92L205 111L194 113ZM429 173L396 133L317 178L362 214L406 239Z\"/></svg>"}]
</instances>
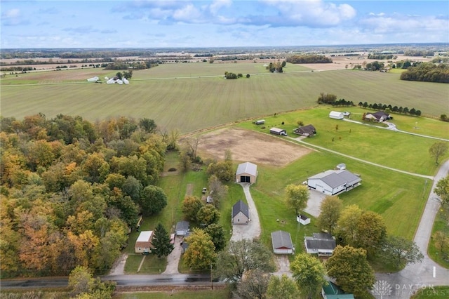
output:
<instances>
[{"instance_id":1,"label":"dark grove of trees at right edge beyond the large field","mask_svg":"<svg viewBox=\"0 0 449 299\"><path fill-rule=\"evenodd\" d=\"M449 65L422 62L401 74L401 80L449 83Z\"/></svg>"}]
</instances>

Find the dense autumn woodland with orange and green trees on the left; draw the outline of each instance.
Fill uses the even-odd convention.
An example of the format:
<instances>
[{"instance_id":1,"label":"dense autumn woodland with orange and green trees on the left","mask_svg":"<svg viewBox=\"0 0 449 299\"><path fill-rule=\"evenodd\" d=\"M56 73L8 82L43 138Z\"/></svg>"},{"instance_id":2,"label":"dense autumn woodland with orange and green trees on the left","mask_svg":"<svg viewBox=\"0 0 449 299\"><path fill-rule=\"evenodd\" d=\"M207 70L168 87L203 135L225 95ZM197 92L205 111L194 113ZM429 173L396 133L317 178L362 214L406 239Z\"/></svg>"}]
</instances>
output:
<instances>
[{"instance_id":1,"label":"dense autumn woodland with orange and green trees on the left","mask_svg":"<svg viewBox=\"0 0 449 299\"><path fill-rule=\"evenodd\" d=\"M167 135L152 119L1 118L1 277L102 273L159 213Z\"/></svg>"}]
</instances>

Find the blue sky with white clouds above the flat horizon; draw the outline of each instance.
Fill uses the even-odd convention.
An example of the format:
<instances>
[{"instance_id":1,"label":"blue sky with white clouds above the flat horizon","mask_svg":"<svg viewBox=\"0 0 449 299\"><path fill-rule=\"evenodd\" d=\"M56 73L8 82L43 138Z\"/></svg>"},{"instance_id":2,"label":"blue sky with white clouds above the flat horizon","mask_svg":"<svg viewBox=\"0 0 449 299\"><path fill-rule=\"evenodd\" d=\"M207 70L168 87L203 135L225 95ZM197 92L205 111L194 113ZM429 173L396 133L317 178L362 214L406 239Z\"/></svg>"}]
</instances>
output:
<instances>
[{"instance_id":1,"label":"blue sky with white clouds above the flat horizon","mask_svg":"<svg viewBox=\"0 0 449 299\"><path fill-rule=\"evenodd\" d=\"M449 42L449 1L0 1L0 48Z\"/></svg>"}]
</instances>

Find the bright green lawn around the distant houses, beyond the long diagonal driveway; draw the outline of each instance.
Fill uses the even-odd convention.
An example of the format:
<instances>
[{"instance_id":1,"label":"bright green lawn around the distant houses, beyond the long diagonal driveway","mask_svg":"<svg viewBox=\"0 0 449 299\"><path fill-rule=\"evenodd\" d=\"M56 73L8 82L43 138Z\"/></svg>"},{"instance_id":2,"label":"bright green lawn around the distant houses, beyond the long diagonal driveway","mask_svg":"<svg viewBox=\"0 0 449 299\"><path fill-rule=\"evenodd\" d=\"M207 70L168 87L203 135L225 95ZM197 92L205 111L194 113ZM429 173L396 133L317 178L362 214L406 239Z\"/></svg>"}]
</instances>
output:
<instances>
[{"instance_id":1,"label":"bright green lawn around the distant houses, beyond the long diagonal driveway","mask_svg":"<svg viewBox=\"0 0 449 299\"><path fill-rule=\"evenodd\" d=\"M297 135L292 133L293 129L297 128L297 121L303 121L304 124L313 124L316 128L317 134L314 137L303 140L311 145L326 147L328 150L398 168L402 171L423 175L435 173L437 166L434 158L429 155L429 148L438 140L330 119L328 114L333 109L336 108L324 106L288 112L265 117L264 126L257 126L250 121L238 124L238 126L263 133L269 133L271 127L280 127L286 129L290 136L296 137ZM346 108L340 110L344 109ZM347 110L353 113L351 119L359 121L361 121L363 112L366 112L365 109L356 107ZM410 126L410 123L414 123L417 118L398 117L398 119L401 120L400 124L406 127L406 124ZM449 139L449 123L425 118L419 119L420 133ZM443 161L448 157L449 153L445 154L445 157L440 160ZM341 159L346 158L342 157Z\"/></svg>"}]
</instances>

